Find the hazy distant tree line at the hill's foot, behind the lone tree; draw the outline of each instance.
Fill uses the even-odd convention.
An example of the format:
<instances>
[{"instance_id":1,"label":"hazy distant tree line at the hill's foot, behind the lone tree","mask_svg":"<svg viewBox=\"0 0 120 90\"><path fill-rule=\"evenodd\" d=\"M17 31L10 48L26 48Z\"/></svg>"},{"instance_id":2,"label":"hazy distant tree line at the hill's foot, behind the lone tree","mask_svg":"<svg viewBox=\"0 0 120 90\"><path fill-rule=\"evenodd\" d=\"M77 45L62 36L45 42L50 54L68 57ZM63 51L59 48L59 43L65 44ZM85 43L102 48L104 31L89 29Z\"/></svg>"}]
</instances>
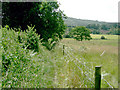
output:
<instances>
[{"instance_id":1,"label":"hazy distant tree line at the hill's foot, behind the lone tree","mask_svg":"<svg viewBox=\"0 0 120 90\"><path fill-rule=\"evenodd\" d=\"M66 33L72 30L75 26L67 26ZM119 35L118 24L109 23L109 24L88 24L85 26L90 29L92 34L112 34Z\"/></svg>"}]
</instances>

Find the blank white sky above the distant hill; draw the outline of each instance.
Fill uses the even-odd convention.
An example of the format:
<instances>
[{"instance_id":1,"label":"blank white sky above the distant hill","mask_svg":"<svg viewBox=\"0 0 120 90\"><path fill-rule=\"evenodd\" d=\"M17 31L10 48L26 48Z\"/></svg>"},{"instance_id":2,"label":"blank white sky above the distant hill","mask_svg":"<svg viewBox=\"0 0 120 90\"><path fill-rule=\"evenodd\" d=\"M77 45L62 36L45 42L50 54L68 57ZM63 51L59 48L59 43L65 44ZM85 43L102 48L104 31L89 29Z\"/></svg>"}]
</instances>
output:
<instances>
[{"instance_id":1,"label":"blank white sky above the distant hill","mask_svg":"<svg viewBox=\"0 0 120 90\"><path fill-rule=\"evenodd\" d=\"M77 19L118 22L120 0L57 0L68 17Z\"/></svg>"}]
</instances>

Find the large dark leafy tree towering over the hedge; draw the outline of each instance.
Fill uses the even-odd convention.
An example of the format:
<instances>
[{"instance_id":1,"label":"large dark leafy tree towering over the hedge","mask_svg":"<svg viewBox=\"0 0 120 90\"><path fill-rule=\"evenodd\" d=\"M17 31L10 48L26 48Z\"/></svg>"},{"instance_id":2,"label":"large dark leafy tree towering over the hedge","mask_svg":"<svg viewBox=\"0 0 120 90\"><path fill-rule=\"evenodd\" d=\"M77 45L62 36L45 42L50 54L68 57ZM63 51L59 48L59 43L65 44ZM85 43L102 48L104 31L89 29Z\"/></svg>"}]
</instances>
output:
<instances>
[{"instance_id":1,"label":"large dark leafy tree towering over the hedge","mask_svg":"<svg viewBox=\"0 0 120 90\"><path fill-rule=\"evenodd\" d=\"M44 45L62 39L65 30L63 18L66 16L59 9L58 2L3 2L2 9L3 26L26 30L27 25L35 25Z\"/></svg>"}]
</instances>

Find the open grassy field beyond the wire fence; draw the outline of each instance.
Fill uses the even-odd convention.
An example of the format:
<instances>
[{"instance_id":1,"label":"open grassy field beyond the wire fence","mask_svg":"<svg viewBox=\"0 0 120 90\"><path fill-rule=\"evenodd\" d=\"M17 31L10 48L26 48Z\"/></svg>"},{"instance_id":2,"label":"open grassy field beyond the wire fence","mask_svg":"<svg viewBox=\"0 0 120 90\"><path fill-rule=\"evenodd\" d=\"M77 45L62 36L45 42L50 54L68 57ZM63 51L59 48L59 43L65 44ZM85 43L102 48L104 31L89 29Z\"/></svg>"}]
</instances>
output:
<instances>
[{"instance_id":1,"label":"open grassy field beyond the wire fence","mask_svg":"<svg viewBox=\"0 0 120 90\"><path fill-rule=\"evenodd\" d=\"M64 38L61 43L71 47L74 56L83 57L84 62L95 66L102 66L102 73L107 73L104 78L118 87L118 36L104 35L107 40L101 40L102 35L92 35L91 41L76 41L74 39ZM102 87L107 87L102 83Z\"/></svg>"}]
</instances>

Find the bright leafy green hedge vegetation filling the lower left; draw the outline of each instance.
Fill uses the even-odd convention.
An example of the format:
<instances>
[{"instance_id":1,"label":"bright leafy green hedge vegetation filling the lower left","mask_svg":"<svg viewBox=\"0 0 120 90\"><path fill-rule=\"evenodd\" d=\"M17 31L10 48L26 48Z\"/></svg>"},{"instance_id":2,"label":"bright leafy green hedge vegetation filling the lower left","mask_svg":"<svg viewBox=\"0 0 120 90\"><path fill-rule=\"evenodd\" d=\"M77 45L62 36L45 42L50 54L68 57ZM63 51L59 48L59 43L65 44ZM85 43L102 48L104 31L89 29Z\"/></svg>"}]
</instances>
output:
<instances>
[{"instance_id":1,"label":"bright leafy green hedge vegetation filling the lower left","mask_svg":"<svg viewBox=\"0 0 120 90\"><path fill-rule=\"evenodd\" d=\"M26 32L15 32L15 29L8 26L2 28L3 88L45 88L53 86L52 78L54 75L51 72L53 64L47 50L40 44L40 41L38 52L27 49L32 43L30 35L39 37L37 34L33 34L35 32L33 28L28 26ZM18 39L19 35L21 43ZM30 37L30 40L28 40L28 37ZM30 44L27 40L30 41ZM26 46L26 43L28 46Z\"/></svg>"}]
</instances>

